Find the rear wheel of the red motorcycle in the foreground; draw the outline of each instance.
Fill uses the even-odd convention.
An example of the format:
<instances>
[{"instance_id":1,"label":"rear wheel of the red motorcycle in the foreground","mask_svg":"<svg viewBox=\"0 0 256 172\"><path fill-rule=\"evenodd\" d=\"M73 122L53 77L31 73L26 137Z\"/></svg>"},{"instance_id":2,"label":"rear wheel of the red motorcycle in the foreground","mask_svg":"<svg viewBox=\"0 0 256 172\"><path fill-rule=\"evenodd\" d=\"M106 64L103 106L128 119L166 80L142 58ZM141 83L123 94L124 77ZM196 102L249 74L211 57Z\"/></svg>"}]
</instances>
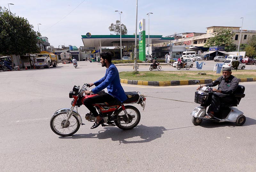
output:
<instances>
[{"instance_id":1,"label":"rear wheel of the red motorcycle in the foreground","mask_svg":"<svg viewBox=\"0 0 256 172\"><path fill-rule=\"evenodd\" d=\"M116 126L122 130L131 130L132 128L136 127L140 122L140 111L135 108L134 106L124 106L128 116L131 117L131 115L134 115L132 120L124 121L126 118L124 111L122 108L119 108L116 112Z\"/></svg>"}]
</instances>

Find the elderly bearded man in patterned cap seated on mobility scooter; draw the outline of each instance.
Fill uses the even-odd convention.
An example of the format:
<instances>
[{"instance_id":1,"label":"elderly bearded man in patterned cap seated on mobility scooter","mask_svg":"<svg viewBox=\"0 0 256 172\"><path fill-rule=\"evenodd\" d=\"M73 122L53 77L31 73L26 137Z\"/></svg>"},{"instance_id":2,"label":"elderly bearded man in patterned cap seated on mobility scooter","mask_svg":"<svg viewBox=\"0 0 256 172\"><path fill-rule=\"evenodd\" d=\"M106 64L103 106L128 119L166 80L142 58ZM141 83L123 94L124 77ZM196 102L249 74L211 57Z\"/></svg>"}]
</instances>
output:
<instances>
[{"instance_id":1,"label":"elderly bearded man in patterned cap seated on mobility scooter","mask_svg":"<svg viewBox=\"0 0 256 172\"><path fill-rule=\"evenodd\" d=\"M212 119L214 117L214 113L217 113L220 111L220 105L228 104L233 100L233 93L238 87L238 79L234 77L231 71L231 68L223 68L222 69L222 76L216 79L219 81L218 89L214 88L213 91L216 91L216 93L212 94L212 99L208 99L205 106L210 105L210 113L206 114L204 118L206 119ZM216 86L217 84L206 84L204 86ZM203 86L201 86L203 87ZM200 89L200 86L197 88L197 90Z\"/></svg>"}]
</instances>

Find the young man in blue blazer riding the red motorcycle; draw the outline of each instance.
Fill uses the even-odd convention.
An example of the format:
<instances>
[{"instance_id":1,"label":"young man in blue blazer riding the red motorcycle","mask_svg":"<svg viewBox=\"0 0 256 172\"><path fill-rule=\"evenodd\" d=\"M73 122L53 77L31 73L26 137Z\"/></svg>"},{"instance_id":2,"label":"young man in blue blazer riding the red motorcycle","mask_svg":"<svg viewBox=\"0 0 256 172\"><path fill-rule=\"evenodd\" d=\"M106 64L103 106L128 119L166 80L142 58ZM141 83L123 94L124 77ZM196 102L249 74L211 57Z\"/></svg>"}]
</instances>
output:
<instances>
[{"instance_id":1,"label":"young man in blue blazer riding the red motorcycle","mask_svg":"<svg viewBox=\"0 0 256 172\"><path fill-rule=\"evenodd\" d=\"M102 52L100 54L101 66L107 68L105 76L94 83L90 83L89 87L95 85L95 88L89 91L84 91L86 95L92 93L99 94L84 100L84 105L86 106L86 108L88 108L90 112L92 112L92 115L96 117L96 122L92 125L91 129L94 129L100 124L104 123L103 119L97 113L96 109L93 107L92 104L107 102L109 105L115 105L127 100L124 89L120 83L118 70L116 66L112 64L111 58L112 54L109 51Z\"/></svg>"}]
</instances>

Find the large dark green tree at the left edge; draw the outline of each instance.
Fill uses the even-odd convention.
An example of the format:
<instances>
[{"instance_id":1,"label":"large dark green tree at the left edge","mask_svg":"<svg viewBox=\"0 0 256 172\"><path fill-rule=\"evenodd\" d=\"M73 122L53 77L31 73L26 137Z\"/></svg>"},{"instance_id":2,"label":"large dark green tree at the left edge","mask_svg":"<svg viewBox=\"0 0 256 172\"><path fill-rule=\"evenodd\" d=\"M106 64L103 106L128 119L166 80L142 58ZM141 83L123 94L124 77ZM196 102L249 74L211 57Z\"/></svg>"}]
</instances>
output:
<instances>
[{"instance_id":1,"label":"large dark green tree at the left edge","mask_svg":"<svg viewBox=\"0 0 256 172\"><path fill-rule=\"evenodd\" d=\"M33 30L27 19L15 16L0 6L0 54L25 55L38 53L40 33Z\"/></svg>"}]
</instances>

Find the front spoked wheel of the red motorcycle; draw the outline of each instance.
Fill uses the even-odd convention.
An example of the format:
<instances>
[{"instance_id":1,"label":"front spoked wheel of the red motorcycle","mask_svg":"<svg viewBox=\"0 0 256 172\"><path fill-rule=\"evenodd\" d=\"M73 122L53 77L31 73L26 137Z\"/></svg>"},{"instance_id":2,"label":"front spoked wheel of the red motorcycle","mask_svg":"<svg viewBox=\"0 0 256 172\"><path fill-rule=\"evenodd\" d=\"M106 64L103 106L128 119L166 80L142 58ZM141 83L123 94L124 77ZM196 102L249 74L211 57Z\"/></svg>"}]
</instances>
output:
<instances>
[{"instance_id":1,"label":"front spoked wheel of the red motorcycle","mask_svg":"<svg viewBox=\"0 0 256 172\"><path fill-rule=\"evenodd\" d=\"M64 127L64 123L67 120L67 113L61 113L56 116L52 116L50 121L50 126L52 131L63 137L72 136L73 134L78 131L80 127L80 123L78 121L78 118L75 115L71 115L67 126Z\"/></svg>"}]
</instances>

